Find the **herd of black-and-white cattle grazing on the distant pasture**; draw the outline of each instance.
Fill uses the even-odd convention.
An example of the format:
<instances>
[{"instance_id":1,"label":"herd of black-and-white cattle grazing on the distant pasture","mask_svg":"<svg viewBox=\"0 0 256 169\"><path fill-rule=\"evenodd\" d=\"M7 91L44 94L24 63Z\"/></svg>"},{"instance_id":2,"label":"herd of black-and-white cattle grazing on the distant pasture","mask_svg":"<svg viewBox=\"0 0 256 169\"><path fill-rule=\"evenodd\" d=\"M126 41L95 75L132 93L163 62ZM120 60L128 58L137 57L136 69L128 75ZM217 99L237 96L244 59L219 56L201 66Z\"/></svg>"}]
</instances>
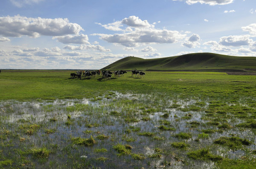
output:
<instances>
[{"instance_id":1,"label":"herd of black-and-white cattle grazing on the distant pasture","mask_svg":"<svg viewBox=\"0 0 256 169\"><path fill-rule=\"evenodd\" d=\"M77 77L77 79L81 79L81 77L84 78L91 78L91 77L95 77L95 76L100 76L100 73L102 73L102 78L105 78L106 80L110 80L112 76L124 76L125 73L127 73L127 71L125 70L116 70L113 73L111 71L108 70L102 70L102 72L100 72L100 70L97 71L77 71L76 73L70 73L70 77L72 79L74 79L75 77ZM139 78L145 78L145 73L142 71L138 71L138 70L131 70L131 76L133 77L135 75L135 77L137 76Z\"/></svg>"}]
</instances>

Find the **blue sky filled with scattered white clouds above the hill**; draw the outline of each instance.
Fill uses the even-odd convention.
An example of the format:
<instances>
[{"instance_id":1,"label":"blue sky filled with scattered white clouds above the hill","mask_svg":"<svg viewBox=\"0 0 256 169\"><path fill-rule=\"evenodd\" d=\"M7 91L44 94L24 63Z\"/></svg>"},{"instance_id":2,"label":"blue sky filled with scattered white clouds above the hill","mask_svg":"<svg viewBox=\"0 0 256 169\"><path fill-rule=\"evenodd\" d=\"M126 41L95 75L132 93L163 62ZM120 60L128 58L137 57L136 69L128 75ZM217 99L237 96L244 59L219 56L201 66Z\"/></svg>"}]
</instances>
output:
<instances>
[{"instance_id":1,"label":"blue sky filled with scattered white clouds above the hill","mask_svg":"<svg viewBox=\"0 0 256 169\"><path fill-rule=\"evenodd\" d=\"M198 52L256 56L256 0L0 0L0 69Z\"/></svg>"}]
</instances>

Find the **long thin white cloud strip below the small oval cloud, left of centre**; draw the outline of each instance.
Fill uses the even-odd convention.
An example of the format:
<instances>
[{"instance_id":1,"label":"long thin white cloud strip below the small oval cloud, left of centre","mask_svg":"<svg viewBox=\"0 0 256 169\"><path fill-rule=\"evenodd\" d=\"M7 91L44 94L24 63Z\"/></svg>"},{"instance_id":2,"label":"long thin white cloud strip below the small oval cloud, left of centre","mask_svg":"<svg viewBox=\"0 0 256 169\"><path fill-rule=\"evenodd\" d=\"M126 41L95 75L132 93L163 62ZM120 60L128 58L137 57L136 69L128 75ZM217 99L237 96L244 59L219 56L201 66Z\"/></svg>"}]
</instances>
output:
<instances>
[{"instance_id":1,"label":"long thin white cloud strip below the small oval cloud, left of centre","mask_svg":"<svg viewBox=\"0 0 256 169\"><path fill-rule=\"evenodd\" d=\"M64 46L64 49L69 49L72 51L75 50L95 50L95 51L101 51L101 52L110 52L110 49L106 49L105 47L101 46L101 45L79 45L79 46L74 46L74 45L67 45Z\"/></svg>"}]
</instances>

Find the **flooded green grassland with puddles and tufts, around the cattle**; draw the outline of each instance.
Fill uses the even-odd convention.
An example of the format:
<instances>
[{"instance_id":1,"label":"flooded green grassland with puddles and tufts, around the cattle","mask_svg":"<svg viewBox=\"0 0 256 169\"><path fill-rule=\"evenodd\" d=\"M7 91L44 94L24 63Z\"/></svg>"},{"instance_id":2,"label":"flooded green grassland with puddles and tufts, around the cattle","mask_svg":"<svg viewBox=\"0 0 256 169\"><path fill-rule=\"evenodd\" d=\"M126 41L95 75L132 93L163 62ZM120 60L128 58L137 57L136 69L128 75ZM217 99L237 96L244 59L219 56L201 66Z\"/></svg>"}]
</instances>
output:
<instances>
[{"instance_id":1,"label":"flooded green grassland with puddles and tufts, around the cattle","mask_svg":"<svg viewBox=\"0 0 256 169\"><path fill-rule=\"evenodd\" d=\"M0 74L0 168L255 168L256 76Z\"/></svg>"}]
</instances>

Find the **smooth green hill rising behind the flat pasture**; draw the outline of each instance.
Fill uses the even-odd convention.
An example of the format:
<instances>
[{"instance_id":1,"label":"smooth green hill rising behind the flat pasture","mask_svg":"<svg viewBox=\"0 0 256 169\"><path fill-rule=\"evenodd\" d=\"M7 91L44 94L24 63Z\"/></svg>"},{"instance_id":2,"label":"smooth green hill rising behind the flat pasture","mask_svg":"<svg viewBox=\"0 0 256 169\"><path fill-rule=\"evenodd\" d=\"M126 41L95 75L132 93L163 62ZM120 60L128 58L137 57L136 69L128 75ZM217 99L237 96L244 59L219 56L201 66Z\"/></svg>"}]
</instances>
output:
<instances>
[{"instance_id":1,"label":"smooth green hill rising behind the flat pasture","mask_svg":"<svg viewBox=\"0 0 256 169\"><path fill-rule=\"evenodd\" d=\"M256 57L195 53L157 59L128 56L102 70L256 71Z\"/></svg>"}]
</instances>

